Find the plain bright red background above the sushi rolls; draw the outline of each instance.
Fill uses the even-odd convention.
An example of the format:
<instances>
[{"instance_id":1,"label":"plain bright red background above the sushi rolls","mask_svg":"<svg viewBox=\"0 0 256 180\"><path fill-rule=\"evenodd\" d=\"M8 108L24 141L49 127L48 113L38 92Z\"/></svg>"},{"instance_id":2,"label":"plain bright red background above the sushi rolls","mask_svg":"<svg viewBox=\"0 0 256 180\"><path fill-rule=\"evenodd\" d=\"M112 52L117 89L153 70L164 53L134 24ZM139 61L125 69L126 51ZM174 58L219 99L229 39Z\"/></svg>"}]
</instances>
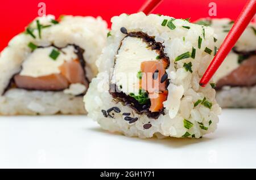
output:
<instances>
[{"instance_id":1,"label":"plain bright red background above the sushi rolls","mask_svg":"<svg viewBox=\"0 0 256 180\"><path fill-rule=\"evenodd\" d=\"M46 3L46 14L59 15L92 15L102 16L110 25L114 15L132 14L145 0L23 0L0 2L0 50L10 39L24 30L24 27L38 16L38 3ZM191 18L196 20L208 17L209 3L217 4L216 18L236 19L246 0L164 0L154 13L170 15L175 18Z\"/></svg>"}]
</instances>

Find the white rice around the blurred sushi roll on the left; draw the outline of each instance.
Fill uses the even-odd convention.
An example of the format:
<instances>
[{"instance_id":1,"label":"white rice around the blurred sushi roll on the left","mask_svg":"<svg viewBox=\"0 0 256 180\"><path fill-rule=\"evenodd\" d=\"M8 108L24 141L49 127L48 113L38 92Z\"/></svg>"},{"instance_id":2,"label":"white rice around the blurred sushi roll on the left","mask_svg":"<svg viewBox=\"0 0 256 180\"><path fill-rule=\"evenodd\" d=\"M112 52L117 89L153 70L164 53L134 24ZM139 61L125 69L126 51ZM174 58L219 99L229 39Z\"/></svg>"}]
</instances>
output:
<instances>
[{"instance_id":1,"label":"white rice around the blurred sushi roll on the left","mask_svg":"<svg viewBox=\"0 0 256 180\"><path fill-rule=\"evenodd\" d=\"M37 46L65 47L74 44L84 49L86 61L86 76L91 80L97 74L95 65L98 55L106 44L108 33L107 24L100 17L63 16L59 24L52 24L54 16L48 15L36 18L30 25L34 28L36 38L27 33L15 36L7 48L0 55L0 114L84 114L85 109L82 97L76 97L64 92L27 91L24 89L10 89L3 93L11 78L22 68L23 62L31 54L28 44ZM36 20L41 25L51 25L42 29L42 38L39 38ZM70 87L68 92L71 92ZM79 88L81 91L81 87ZM66 91L67 92L67 91ZM75 92L77 93L76 89Z\"/></svg>"}]
</instances>

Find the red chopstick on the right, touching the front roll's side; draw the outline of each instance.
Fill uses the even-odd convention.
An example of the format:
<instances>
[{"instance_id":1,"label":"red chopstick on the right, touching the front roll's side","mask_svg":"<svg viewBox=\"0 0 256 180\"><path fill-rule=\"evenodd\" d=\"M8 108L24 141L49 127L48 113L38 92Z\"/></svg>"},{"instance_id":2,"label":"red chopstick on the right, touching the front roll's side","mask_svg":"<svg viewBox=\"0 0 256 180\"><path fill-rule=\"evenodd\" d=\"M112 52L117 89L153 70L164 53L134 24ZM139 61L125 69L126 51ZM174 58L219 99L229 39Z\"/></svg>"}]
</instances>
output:
<instances>
[{"instance_id":1,"label":"red chopstick on the right, touching the front roll's side","mask_svg":"<svg viewBox=\"0 0 256 180\"><path fill-rule=\"evenodd\" d=\"M226 36L224 42L220 46L220 49L218 50L209 67L205 71L202 79L200 80L201 86L205 87L205 85L209 83L210 79L212 79L212 76L217 71L218 67L220 67L221 63L224 61L230 50L236 44L243 31L245 31L245 28L250 23L251 19L253 19L255 13L256 0L247 1L245 7L243 7L242 12L228 33L228 36Z\"/></svg>"}]
</instances>

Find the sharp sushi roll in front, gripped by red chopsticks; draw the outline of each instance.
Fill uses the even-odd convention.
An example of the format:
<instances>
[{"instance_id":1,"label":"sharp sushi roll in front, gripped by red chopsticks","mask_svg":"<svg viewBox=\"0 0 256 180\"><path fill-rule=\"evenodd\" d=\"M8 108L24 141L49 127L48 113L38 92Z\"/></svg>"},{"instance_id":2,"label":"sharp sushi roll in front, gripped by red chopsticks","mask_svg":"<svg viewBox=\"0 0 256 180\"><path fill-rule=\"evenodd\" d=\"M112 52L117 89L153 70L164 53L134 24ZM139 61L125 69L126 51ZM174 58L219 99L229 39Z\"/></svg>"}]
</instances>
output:
<instances>
[{"instance_id":1,"label":"sharp sushi roll in front, gripped by red chopsticks","mask_svg":"<svg viewBox=\"0 0 256 180\"><path fill-rule=\"evenodd\" d=\"M89 117L140 138L200 138L216 130L216 92L199 85L216 46L212 28L139 12L113 17L109 35L84 98Z\"/></svg>"}]
</instances>

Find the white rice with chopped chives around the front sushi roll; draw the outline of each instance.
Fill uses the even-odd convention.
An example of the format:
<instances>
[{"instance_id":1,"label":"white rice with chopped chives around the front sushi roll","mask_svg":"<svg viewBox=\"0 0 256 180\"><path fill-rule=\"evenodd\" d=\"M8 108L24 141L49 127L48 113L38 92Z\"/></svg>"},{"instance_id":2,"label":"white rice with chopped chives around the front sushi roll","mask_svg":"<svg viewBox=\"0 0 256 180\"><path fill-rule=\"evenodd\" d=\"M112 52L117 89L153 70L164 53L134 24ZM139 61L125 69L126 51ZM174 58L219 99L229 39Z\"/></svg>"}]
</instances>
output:
<instances>
[{"instance_id":1,"label":"white rice with chopped chives around the front sushi roll","mask_svg":"<svg viewBox=\"0 0 256 180\"><path fill-rule=\"evenodd\" d=\"M186 132L189 133L189 138L192 135L195 138L200 138L204 134L216 130L218 115L221 113L221 108L215 100L216 92L210 85L204 88L199 86L200 78L213 58L213 55L204 52L206 47L214 49L213 29L176 19L173 21L176 28L171 30L167 26L161 25L164 19L170 20L171 18L154 14L146 16L142 12L131 15L122 14L112 18L112 36L108 38L108 45L97 60L100 73L97 78L92 80L84 98L89 117L97 121L105 130L140 138L151 138L154 135L181 138ZM188 26L190 29L182 26ZM121 102L114 101L109 93L110 74L113 72L115 55L125 37L120 32L121 27L125 27L128 32L141 31L149 36L154 36L156 42L163 44L164 53L170 58L170 67L166 70L170 79L168 98L164 102L164 115L160 115L158 119L137 114ZM203 37L203 28L205 29L205 38ZM203 38L201 49L197 48L199 36ZM174 59L180 54L191 52L192 47L196 48L195 59L182 59L175 65ZM184 63L189 62L192 62L192 73L183 68ZM195 102L203 100L204 97L212 103L212 108L206 108L202 104L194 107ZM88 102L90 102L89 105ZM117 106L121 113L113 112L114 118L104 117L101 110L108 110L113 106ZM138 121L129 124L123 119L122 113L131 113L130 116L138 117ZM184 119L193 123L193 126L189 129L185 128ZM147 123L150 123L152 127L145 129L143 126Z\"/></svg>"}]
</instances>

